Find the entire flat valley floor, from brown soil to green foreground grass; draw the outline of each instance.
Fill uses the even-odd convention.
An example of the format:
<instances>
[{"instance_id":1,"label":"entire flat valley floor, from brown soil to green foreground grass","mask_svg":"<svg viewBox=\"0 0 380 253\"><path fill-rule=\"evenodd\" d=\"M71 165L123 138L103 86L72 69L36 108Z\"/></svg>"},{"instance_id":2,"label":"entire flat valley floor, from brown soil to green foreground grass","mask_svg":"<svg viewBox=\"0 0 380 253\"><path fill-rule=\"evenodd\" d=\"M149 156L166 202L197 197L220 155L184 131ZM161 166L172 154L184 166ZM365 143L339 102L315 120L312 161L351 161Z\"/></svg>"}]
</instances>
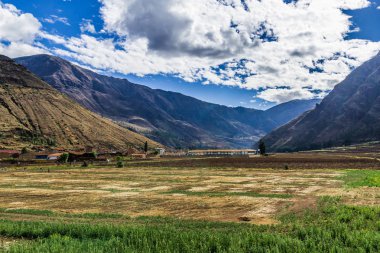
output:
<instances>
[{"instance_id":1,"label":"entire flat valley floor, from brown soil to green foreground grass","mask_svg":"<svg viewBox=\"0 0 380 253\"><path fill-rule=\"evenodd\" d=\"M378 252L379 169L342 150L1 168L0 251Z\"/></svg>"}]
</instances>

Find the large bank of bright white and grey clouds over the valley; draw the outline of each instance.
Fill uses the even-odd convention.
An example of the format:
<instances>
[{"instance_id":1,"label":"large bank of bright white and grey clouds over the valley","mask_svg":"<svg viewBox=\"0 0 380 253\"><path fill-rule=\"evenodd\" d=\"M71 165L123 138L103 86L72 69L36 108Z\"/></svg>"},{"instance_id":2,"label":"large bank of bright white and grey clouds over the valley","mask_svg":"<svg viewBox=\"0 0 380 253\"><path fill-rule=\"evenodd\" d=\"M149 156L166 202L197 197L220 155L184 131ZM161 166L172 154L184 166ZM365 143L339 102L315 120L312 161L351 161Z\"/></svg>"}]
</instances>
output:
<instances>
[{"instance_id":1,"label":"large bank of bright white and grey clouds over the valley","mask_svg":"<svg viewBox=\"0 0 380 253\"><path fill-rule=\"evenodd\" d=\"M353 31L343 10L367 0L99 1L103 29L95 34L84 20L82 35L70 38L2 4L0 38L33 51L46 50L36 43L42 37L58 45L52 53L101 71L256 89L271 102L322 96L380 50L379 42L346 39Z\"/></svg>"}]
</instances>

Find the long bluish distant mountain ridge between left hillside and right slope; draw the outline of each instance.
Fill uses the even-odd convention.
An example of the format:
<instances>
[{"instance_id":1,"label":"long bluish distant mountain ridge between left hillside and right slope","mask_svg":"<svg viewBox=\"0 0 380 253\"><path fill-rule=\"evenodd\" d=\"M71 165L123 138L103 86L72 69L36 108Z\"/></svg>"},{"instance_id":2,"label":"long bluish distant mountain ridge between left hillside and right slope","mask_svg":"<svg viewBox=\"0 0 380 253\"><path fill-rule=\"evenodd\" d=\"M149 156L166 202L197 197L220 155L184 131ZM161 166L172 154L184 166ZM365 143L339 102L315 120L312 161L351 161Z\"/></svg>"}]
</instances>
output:
<instances>
[{"instance_id":1,"label":"long bluish distant mountain ridge between left hillside and right slope","mask_svg":"<svg viewBox=\"0 0 380 253\"><path fill-rule=\"evenodd\" d=\"M99 75L58 57L16 60L86 108L173 147L250 147L314 106L306 102L297 113L230 108Z\"/></svg>"}]
</instances>

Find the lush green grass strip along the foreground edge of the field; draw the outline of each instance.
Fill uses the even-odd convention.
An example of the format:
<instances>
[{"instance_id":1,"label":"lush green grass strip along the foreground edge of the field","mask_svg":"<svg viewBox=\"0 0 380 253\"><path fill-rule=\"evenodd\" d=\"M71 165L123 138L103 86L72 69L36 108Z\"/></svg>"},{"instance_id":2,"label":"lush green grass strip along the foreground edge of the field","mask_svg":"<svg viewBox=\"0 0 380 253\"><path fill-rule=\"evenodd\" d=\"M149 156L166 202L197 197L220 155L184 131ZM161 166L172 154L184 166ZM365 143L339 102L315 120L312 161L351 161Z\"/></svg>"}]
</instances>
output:
<instances>
[{"instance_id":1,"label":"lush green grass strip along the foreground edge of the field","mask_svg":"<svg viewBox=\"0 0 380 253\"><path fill-rule=\"evenodd\" d=\"M28 211L30 212L30 211ZM27 212L26 212L27 213ZM31 212L33 213L33 212ZM42 215L51 215L41 212ZM89 220L88 220L89 219ZM318 207L279 217L279 225L160 217L119 223L0 221L19 239L6 252L379 252L380 208L322 197Z\"/></svg>"}]
</instances>

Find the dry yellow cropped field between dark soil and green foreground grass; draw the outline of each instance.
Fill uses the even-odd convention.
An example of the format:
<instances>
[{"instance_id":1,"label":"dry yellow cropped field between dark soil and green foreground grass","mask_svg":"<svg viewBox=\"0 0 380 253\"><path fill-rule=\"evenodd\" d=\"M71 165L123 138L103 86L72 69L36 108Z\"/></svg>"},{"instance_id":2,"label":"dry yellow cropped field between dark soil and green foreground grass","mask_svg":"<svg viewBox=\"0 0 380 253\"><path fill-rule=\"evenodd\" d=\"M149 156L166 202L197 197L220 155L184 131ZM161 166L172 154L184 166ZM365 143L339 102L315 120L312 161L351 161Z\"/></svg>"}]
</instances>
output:
<instances>
[{"instance_id":1,"label":"dry yellow cropped field between dark soil and green foreground grass","mask_svg":"<svg viewBox=\"0 0 380 253\"><path fill-rule=\"evenodd\" d=\"M380 193L342 188L343 172L213 168L39 169L0 173L0 208L119 213L274 224L320 195L378 205ZM253 194L254 193L254 194Z\"/></svg>"}]
</instances>

